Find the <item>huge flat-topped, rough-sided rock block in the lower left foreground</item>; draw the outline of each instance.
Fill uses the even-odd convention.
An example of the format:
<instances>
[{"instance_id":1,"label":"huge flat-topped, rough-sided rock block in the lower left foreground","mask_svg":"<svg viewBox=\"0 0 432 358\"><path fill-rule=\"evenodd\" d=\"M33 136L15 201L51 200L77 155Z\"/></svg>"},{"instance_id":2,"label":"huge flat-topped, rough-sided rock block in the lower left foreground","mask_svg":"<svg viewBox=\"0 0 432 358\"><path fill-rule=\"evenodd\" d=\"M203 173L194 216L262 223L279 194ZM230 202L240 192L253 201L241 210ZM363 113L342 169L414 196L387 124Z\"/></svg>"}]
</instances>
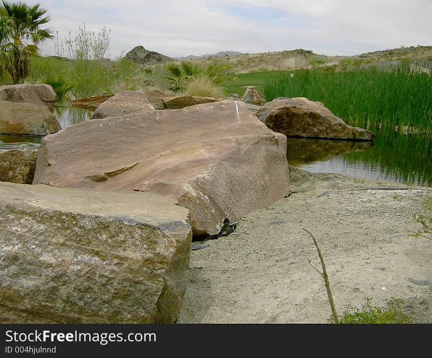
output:
<instances>
[{"instance_id":1,"label":"huge flat-topped, rough-sided rock block in the lower left foreground","mask_svg":"<svg viewBox=\"0 0 432 358\"><path fill-rule=\"evenodd\" d=\"M1 323L172 323L187 210L160 195L0 183Z\"/></svg>"}]
</instances>

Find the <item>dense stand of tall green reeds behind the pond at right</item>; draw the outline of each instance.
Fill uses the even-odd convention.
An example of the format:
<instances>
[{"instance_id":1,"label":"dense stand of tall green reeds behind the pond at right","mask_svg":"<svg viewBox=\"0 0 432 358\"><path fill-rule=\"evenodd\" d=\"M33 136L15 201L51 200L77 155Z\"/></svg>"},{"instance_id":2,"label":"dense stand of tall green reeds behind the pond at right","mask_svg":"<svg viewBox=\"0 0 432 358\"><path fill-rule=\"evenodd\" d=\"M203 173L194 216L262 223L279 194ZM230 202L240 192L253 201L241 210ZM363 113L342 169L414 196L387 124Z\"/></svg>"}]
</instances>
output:
<instances>
[{"instance_id":1,"label":"dense stand of tall green reeds behind the pond at right","mask_svg":"<svg viewBox=\"0 0 432 358\"><path fill-rule=\"evenodd\" d=\"M267 81L267 101L306 97L324 102L351 126L411 130L432 135L431 71L405 66L394 71L356 69L346 72L299 70Z\"/></svg>"}]
</instances>

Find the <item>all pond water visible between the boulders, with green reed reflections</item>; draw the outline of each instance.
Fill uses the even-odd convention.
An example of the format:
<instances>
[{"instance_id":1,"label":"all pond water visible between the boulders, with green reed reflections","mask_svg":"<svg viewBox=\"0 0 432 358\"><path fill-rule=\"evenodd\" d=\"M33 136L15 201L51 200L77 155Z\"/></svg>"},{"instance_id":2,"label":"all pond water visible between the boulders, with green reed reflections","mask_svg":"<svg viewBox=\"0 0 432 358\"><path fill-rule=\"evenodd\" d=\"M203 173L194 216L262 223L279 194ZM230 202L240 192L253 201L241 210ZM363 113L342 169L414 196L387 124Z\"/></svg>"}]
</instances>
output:
<instances>
[{"instance_id":1,"label":"all pond water visible between the boulders, with green reed reflections","mask_svg":"<svg viewBox=\"0 0 432 358\"><path fill-rule=\"evenodd\" d=\"M55 107L61 128L88 121L93 111ZM313 173L339 173L408 185L432 186L432 138L375 131L374 142L288 138L288 162ZM40 143L40 137L0 135L0 144Z\"/></svg>"}]
</instances>

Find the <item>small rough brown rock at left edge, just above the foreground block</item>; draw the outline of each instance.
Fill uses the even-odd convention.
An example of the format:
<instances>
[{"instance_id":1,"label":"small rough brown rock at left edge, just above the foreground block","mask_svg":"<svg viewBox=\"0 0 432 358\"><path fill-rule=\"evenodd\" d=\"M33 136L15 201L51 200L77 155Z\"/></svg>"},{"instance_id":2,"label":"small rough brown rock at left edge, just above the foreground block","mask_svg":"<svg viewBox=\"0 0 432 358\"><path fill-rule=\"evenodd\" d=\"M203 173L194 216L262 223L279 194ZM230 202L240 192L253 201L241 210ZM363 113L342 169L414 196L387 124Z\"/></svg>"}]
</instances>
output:
<instances>
[{"instance_id":1,"label":"small rough brown rock at left edge, just above the foreground block","mask_svg":"<svg viewBox=\"0 0 432 358\"><path fill-rule=\"evenodd\" d=\"M1 145L0 181L31 184L39 144Z\"/></svg>"}]
</instances>

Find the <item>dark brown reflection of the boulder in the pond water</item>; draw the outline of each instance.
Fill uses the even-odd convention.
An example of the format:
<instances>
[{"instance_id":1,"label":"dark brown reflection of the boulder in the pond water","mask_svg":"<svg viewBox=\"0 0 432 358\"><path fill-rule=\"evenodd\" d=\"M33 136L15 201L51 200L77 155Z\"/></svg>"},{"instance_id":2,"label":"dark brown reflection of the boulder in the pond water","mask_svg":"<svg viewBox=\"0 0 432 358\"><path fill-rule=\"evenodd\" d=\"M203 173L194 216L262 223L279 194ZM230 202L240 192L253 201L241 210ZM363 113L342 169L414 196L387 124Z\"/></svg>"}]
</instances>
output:
<instances>
[{"instance_id":1,"label":"dark brown reflection of the boulder in the pond water","mask_svg":"<svg viewBox=\"0 0 432 358\"><path fill-rule=\"evenodd\" d=\"M365 151L373 146L373 142L288 138L287 159L288 163L296 166L317 160L329 160L343 153Z\"/></svg>"}]
</instances>

